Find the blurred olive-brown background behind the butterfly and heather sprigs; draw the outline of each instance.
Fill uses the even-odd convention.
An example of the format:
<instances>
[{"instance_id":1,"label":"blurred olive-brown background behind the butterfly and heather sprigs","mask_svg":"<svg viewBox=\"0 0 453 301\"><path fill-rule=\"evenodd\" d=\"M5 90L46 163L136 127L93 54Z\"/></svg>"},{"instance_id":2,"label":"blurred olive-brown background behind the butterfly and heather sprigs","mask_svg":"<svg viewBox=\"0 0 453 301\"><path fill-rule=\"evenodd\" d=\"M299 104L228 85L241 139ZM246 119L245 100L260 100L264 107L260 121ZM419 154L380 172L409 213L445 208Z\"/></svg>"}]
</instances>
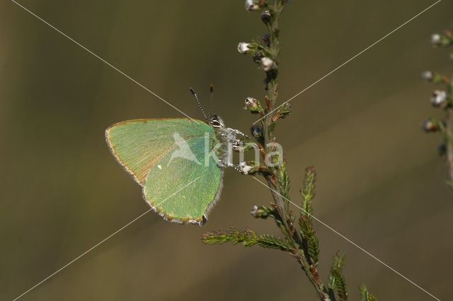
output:
<instances>
[{"instance_id":1,"label":"blurred olive-brown background behind the butterfly and heather sprigs","mask_svg":"<svg viewBox=\"0 0 453 301\"><path fill-rule=\"evenodd\" d=\"M281 23L280 100L286 100L394 30L434 0L293 0ZM226 124L248 131L241 109L263 97L262 71L236 52L265 33L257 14L231 1L31 1L41 18L176 107L201 117L188 87ZM318 171L315 216L418 283L451 300L453 194L437 155L440 136L420 122L433 87L419 74L450 71L430 34L453 25L442 1L292 101L277 126L292 201L307 165ZM104 130L135 118L182 117L11 1L0 9L0 299L42 278L149 208L110 155ZM317 300L283 252L207 246L207 230L235 226L278 234L254 220L267 189L228 170L222 201L203 228L137 220L50 278L23 300ZM400 276L315 223L319 271L346 253L350 299L366 283L379 300L432 300Z\"/></svg>"}]
</instances>

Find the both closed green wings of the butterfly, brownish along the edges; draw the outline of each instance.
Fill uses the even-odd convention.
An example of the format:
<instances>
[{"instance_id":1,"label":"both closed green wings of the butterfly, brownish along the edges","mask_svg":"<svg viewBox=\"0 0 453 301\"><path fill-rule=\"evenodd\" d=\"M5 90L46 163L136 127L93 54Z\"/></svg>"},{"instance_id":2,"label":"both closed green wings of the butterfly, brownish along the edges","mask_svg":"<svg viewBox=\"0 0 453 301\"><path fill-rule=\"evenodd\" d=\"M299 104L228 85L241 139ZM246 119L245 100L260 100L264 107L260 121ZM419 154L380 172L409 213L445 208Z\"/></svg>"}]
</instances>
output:
<instances>
[{"instance_id":1,"label":"both closed green wings of the butterfly, brownish along the edges","mask_svg":"<svg viewBox=\"0 0 453 301\"><path fill-rule=\"evenodd\" d=\"M205 223L223 177L212 156L205 158L219 142L212 126L197 119L137 119L113 124L105 140L154 211L176 223Z\"/></svg>"}]
</instances>

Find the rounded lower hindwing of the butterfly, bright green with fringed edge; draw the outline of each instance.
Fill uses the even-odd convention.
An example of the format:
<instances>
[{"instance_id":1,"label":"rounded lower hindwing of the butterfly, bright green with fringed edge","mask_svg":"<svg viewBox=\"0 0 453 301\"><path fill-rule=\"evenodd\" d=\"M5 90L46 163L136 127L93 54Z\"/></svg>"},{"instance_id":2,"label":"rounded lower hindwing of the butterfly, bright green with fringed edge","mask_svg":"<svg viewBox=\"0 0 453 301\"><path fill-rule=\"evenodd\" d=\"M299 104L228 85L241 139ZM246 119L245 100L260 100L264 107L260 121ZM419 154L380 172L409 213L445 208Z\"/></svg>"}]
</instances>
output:
<instances>
[{"instance_id":1,"label":"rounded lower hindwing of the butterfly, bright green with fringed edge","mask_svg":"<svg viewBox=\"0 0 453 301\"><path fill-rule=\"evenodd\" d=\"M205 167L204 137L190 138L187 143L197 161L183 156L172 158L173 153L166 153L151 168L143 192L153 206L166 213L167 218L181 223L195 223L195 220L203 223L203 216L222 185L222 170L212 159ZM193 184L185 187L190 182ZM165 200L171 194L175 195ZM157 200L162 201L159 204Z\"/></svg>"}]
</instances>

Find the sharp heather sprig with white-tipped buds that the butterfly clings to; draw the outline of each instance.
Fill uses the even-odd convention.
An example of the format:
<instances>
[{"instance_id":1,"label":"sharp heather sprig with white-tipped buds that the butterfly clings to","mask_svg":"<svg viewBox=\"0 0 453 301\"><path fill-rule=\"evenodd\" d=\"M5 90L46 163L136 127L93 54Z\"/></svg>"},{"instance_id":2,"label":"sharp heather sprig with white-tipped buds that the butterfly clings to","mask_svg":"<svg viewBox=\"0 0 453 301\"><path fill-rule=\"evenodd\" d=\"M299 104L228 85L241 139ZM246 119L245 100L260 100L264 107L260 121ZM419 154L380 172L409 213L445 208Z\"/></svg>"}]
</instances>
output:
<instances>
[{"instance_id":1,"label":"sharp heather sprig with white-tipped buds that the butterfly clings to","mask_svg":"<svg viewBox=\"0 0 453 301\"><path fill-rule=\"evenodd\" d=\"M287 0L247 0L246 11L259 13L260 21L265 25L267 33L262 35L262 41L239 42L238 52L249 55L252 61L265 73L265 95L261 98L247 97L244 110L253 116L259 116L259 124L251 126L251 134L255 138L256 149L265 159L265 165L256 161L241 162L238 165L243 175L262 176L268 183L273 201L268 206L256 205L251 209L254 218L263 220L273 219L282 232L282 237L274 235L258 235L251 229L236 230L230 228L223 231L211 231L202 235L205 244L243 244L243 247L258 245L264 248L280 249L289 253L297 260L302 271L313 285L319 300L340 301L348 300L348 291L343 265L345 255L337 252L333 257L333 264L328 273L328 282L323 283L317 270L320 261L319 240L313 225L313 201L316 189L316 172L314 167L307 167L302 181L298 217L289 208L290 181L287 173L287 160L284 153L277 151L275 128L279 119L288 117L292 113L289 103L276 106L277 78L279 74L280 28L278 26L283 8ZM275 109L277 108L277 109ZM436 124L432 121L432 124ZM435 126L435 125L433 125ZM438 125L440 126L440 125ZM362 300L376 300L367 293L365 286L360 287ZM364 297L365 296L365 297ZM363 299L365 298L365 299Z\"/></svg>"}]
</instances>

